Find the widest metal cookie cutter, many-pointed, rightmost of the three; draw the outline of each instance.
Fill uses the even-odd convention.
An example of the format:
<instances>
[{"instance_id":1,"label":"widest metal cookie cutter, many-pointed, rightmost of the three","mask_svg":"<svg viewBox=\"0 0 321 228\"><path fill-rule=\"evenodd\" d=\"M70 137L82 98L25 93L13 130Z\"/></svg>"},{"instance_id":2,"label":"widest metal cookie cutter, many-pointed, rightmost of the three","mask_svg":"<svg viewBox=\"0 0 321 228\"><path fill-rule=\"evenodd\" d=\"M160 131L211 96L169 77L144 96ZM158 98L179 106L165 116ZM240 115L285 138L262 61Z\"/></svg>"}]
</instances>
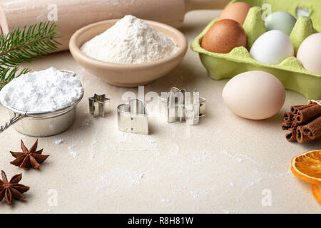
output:
<instances>
[{"instance_id":1,"label":"widest metal cookie cutter, many-pointed, rightmost of the three","mask_svg":"<svg viewBox=\"0 0 321 228\"><path fill-rule=\"evenodd\" d=\"M200 98L197 91L172 87L170 92L158 96L159 112L163 113L168 123L185 121L196 125L200 117L205 116L205 98Z\"/></svg>"}]
</instances>

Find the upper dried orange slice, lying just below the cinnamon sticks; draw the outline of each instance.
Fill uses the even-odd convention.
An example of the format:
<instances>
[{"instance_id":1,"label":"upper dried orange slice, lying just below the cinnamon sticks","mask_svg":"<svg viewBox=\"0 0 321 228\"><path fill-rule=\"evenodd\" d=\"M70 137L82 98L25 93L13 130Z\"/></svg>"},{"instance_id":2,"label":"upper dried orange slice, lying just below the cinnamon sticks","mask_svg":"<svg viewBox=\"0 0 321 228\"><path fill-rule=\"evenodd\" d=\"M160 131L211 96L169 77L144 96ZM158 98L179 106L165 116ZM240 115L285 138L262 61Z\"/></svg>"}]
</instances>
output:
<instances>
[{"instance_id":1,"label":"upper dried orange slice, lying just below the cinnamon sticks","mask_svg":"<svg viewBox=\"0 0 321 228\"><path fill-rule=\"evenodd\" d=\"M312 150L293 157L291 170L296 177L314 185L321 185L321 150Z\"/></svg>"}]
</instances>

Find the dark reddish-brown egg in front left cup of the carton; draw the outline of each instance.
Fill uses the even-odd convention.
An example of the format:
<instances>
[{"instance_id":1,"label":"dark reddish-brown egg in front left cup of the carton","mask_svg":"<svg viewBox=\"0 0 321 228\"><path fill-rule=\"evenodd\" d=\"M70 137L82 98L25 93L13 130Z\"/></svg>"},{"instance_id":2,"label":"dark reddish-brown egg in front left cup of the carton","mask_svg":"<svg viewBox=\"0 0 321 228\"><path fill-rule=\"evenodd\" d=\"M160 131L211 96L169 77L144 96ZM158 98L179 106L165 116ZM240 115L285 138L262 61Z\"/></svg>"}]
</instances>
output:
<instances>
[{"instance_id":1,"label":"dark reddish-brown egg in front left cup of the carton","mask_svg":"<svg viewBox=\"0 0 321 228\"><path fill-rule=\"evenodd\" d=\"M246 33L238 22L224 19L208 29L201 46L210 52L229 53L235 47L245 47L246 39Z\"/></svg>"}]
</instances>

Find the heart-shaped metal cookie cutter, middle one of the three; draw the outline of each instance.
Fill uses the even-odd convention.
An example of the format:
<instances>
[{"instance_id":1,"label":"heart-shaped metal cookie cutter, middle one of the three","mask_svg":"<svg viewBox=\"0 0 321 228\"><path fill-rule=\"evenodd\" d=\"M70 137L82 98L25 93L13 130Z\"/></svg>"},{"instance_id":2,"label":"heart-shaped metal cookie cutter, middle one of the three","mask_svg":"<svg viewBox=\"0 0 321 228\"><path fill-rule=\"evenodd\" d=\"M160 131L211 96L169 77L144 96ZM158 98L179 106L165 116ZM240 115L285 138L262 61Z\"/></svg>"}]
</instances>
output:
<instances>
[{"instance_id":1,"label":"heart-shaped metal cookie cutter, middle one of the three","mask_svg":"<svg viewBox=\"0 0 321 228\"><path fill-rule=\"evenodd\" d=\"M129 100L118 105L118 130L126 133L148 135L148 113L143 101Z\"/></svg>"}]
</instances>

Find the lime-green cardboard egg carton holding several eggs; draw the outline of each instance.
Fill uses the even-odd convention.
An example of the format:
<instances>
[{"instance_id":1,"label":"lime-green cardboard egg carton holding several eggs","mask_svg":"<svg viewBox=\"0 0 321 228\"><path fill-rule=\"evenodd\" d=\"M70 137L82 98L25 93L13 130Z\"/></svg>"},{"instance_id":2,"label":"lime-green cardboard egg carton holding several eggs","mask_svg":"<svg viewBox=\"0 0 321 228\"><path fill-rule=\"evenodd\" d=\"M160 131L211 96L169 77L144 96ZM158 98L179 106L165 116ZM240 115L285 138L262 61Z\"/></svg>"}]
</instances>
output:
<instances>
[{"instance_id":1,"label":"lime-green cardboard egg carton holding several eggs","mask_svg":"<svg viewBox=\"0 0 321 228\"><path fill-rule=\"evenodd\" d=\"M230 1L230 4L233 4L235 1L237 0ZM193 51L199 53L200 61L207 69L210 78L220 80L232 78L245 71L266 71L279 78L285 88L295 90L307 99L321 100L321 76L305 70L297 58L286 58L281 63L275 65L265 64L251 58L248 51L254 41L266 32L263 15L266 14L265 7L271 6L272 12L287 11L293 16L296 16L298 8L308 9L309 17L300 16L290 34L290 39L296 53L300 44L307 36L321 31L321 1L244 0L243 2L253 6L243 24L243 28L248 36L247 48L234 48L230 53L213 53L206 51L200 46L200 42L208 28L218 21L218 18L211 21L191 44Z\"/></svg>"}]
</instances>

